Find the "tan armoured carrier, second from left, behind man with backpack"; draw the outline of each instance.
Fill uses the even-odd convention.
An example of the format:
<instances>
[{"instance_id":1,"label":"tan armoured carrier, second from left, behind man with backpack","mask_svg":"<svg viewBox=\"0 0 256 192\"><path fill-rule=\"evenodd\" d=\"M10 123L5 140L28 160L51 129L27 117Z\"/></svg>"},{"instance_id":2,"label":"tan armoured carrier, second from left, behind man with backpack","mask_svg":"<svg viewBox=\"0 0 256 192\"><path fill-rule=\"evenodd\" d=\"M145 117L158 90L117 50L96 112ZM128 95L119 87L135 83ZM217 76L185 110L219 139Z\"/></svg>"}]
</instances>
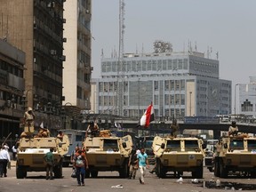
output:
<instances>
[{"instance_id":1,"label":"tan armoured carrier, second from left, behind man with backpack","mask_svg":"<svg viewBox=\"0 0 256 192\"><path fill-rule=\"evenodd\" d=\"M101 131L100 137L87 137L83 142L89 164L86 177L96 178L98 172L117 171L121 178L128 177L128 160L132 152L132 137L111 136Z\"/></svg>"}]
</instances>

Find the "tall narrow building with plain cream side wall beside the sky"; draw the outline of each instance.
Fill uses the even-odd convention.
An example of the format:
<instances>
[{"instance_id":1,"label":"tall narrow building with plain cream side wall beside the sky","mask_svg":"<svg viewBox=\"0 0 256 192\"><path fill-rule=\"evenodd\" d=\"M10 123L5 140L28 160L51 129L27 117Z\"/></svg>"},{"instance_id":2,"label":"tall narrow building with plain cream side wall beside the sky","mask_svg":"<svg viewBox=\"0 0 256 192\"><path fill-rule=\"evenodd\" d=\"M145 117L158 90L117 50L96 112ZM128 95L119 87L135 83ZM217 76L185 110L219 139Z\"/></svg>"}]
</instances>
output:
<instances>
[{"instance_id":1,"label":"tall narrow building with plain cream side wall beside the sky","mask_svg":"<svg viewBox=\"0 0 256 192\"><path fill-rule=\"evenodd\" d=\"M72 105L80 109L90 109L91 94L91 0L72 0L64 4L63 35L67 38L64 44L66 61L63 64L62 105ZM77 109L76 108L76 109Z\"/></svg>"}]
</instances>

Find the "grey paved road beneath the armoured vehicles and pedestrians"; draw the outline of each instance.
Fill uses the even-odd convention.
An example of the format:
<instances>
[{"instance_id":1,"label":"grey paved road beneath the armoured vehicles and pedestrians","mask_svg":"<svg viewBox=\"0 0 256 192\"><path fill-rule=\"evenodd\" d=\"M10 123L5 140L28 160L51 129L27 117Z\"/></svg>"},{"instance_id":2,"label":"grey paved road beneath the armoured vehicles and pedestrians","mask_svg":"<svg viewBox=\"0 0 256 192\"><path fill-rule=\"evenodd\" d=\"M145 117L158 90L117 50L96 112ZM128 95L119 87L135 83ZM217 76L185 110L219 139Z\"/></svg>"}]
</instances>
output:
<instances>
[{"instance_id":1,"label":"grey paved road beneath the armoured vehicles and pedestrians","mask_svg":"<svg viewBox=\"0 0 256 192\"><path fill-rule=\"evenodd\" d=\"M220 178L215 178L212 172L204 169L204 179L199 180L197 184L192 183L191 173L184 172L183 182L177 182L177 178L173 175L167 175L165 179L158 179L155 174L147 172L145 185L140 185L138 177L140 172L137 172L136 180L119 179L117 172L99 172L97 179L86 179L84 187L76 186L76 179L70 177L71 167L63 168L63 179L45 180L44 172L28 172L26 179L17 180L15 177L15 167L12 166L11 170L8 170L7 178L0 178L0 192L13 192L13 191L28 191L28 192L116 192L116 191L175 191L175 192L198 192L198 191L216 191L216 188L203 188L203 181L207 183L213 183ZM208 182L212 180L212 182ZM201 182L202 181L202 182ZM255 184L255 179L244 177L231 177L230 179L220 179L221 183L228 182L240 182L247 184ZM112 188L112 186L122 185L123 188ZM230 188L229 188L230 190ZM254 189L255 191L256 189ZM226 191L225 188L219 188L217 191ZM253 190L251 190L253 191Z\"/></svg>"}]
</instances>

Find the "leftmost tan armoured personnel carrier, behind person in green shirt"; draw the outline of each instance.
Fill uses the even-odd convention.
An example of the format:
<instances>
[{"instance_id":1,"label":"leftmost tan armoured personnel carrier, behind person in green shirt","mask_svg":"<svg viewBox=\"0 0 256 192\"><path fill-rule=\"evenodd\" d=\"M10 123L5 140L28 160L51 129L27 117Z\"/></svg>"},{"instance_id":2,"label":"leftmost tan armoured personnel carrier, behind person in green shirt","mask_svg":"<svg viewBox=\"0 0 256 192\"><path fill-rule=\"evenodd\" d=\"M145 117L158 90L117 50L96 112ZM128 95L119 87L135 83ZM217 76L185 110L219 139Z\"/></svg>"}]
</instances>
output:
<instances>
[{"instance_id":1,"label":"leftmost tan armoured personnel carrier, behind person in green shirt","mask_svg":"<svg viewBox=\"0 0 256 192\"><path fill-rule=\"evenodd\" d=\"M68 136L50 137L47 129L41 129L35 136L32 133L25 130L20 136L16 162L17 179L27 177L27 172L46 171L44 155L50 151L50 148L54 149L54 177L62 178L62 156L68 152Z\"/></svg>"}]
</instances>

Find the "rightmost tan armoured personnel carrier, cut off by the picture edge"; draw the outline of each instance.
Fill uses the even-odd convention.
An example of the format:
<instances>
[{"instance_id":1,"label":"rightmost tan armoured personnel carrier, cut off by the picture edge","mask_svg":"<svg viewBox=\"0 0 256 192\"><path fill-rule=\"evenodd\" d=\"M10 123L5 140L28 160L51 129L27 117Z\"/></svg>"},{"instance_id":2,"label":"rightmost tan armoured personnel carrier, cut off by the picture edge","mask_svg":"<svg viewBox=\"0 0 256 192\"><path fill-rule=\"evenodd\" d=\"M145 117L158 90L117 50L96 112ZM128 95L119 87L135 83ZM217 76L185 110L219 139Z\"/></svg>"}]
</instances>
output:
<instances>
[{"instance_id":1,"label":"rightmost tan armoured personnel carrier, cut off by the picture edge","mask_svg":"<svg viewBox=\"0 0 256 192\"><path fill-rule=\"evenodd\" d=\"M256 176L256 138L247 134L220 139L220 153L214 157L214 175L244 172Z\"/></svg>"}]
</instances>

